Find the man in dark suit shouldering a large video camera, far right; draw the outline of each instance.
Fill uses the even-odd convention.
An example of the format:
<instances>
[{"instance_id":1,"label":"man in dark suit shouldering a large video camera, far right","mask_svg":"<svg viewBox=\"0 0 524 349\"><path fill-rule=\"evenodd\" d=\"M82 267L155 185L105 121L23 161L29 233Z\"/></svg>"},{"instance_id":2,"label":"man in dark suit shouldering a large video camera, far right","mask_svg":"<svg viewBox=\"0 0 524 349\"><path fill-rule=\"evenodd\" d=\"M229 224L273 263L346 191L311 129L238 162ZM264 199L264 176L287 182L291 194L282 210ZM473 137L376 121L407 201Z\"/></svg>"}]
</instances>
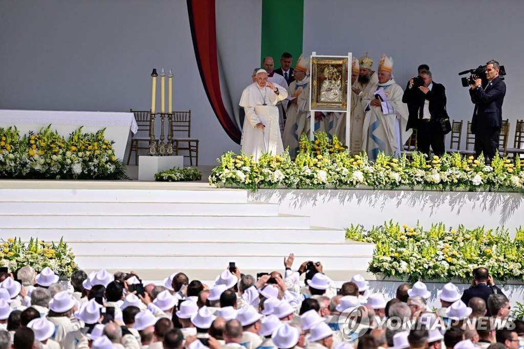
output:
<instances>
[{"instance_id":1,"label":"man in dark suit shouldering a large video camera, far right","mask_svg":"<svg viewBox=\"0 0 524 349\"><path fill-rule=\"evenodd\" d=\"M502 104L506 95L506 84L499 76L500 66L497 61L486 63L488 83L482 86L478 78L471 84L471 101L475 104L471 131L475 134L475 152L477 156L493 159L498 149L498 137L502 125Z\"/></svg>"}]
</instances>

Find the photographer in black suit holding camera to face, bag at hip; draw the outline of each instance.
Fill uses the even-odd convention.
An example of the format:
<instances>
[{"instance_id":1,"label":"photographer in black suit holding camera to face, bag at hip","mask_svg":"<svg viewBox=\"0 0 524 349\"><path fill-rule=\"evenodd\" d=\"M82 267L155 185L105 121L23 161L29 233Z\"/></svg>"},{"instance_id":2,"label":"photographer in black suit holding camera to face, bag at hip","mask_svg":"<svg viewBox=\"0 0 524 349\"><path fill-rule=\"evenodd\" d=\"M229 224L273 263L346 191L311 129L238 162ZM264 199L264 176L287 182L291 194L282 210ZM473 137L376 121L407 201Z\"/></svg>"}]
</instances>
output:
<instances>
[{"instance_id":1,"label":"photographer in black suit holding camera to face, bag at hip","mask_svg":"<svg viewBox=\"0 0 524 349\"><path fill-rule=\"evenodd\" d=\"M416 128L418 150L430 155L444 154L444 133L439 123L445 111L446 93L442 84L433 82L431 72L422 70L417 78L409 80L402 102L408 105L409 118L406 130Z\"/></svg>"}]
</instances>

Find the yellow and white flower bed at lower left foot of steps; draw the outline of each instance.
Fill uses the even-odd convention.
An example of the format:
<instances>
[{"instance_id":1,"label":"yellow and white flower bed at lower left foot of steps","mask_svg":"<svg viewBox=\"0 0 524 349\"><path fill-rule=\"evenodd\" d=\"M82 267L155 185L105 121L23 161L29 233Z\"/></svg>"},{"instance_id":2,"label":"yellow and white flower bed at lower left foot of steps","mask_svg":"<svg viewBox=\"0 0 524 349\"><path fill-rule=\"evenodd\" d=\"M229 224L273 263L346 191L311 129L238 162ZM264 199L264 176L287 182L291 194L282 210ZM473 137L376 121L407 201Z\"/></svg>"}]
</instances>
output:
<instances>
[{"instance_id":1,"label":"yellow and white flower bed at lower left foot of steps","mask_svg":"<svg viewBox=\"0 0 524 349\"><path fill-rule=\"evenodd\" d=\"M20 238L15 237L2 239L0 244L2 245L0 247L0 265L9 268L9 271L15 271L26 265L31 266L37 272L49 267L57 275L70 277L78 270L72 248L63 242L63 238L56 244L31 237L29 243L26 244L21 242Z\"/></svg>"}]
</instances>

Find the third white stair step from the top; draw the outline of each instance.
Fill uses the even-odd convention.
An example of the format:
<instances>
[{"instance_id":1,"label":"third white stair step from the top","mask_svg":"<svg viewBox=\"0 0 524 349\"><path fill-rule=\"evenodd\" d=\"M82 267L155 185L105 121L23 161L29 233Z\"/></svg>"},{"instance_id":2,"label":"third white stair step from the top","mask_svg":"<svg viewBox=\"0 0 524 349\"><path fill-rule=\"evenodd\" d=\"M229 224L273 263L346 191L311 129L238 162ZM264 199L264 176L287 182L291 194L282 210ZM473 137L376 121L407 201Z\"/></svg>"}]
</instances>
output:
<instances>
[{"instance_id":1,"label":"third white stair step from the top","mask_svg":"<svg viewBox=\"0 0 524 349\"><path fill-rule=\"evenodd\" d=\"M278 216L0 215L3 228L309 228L310 218Z\"/></svg>"}]
</instances>

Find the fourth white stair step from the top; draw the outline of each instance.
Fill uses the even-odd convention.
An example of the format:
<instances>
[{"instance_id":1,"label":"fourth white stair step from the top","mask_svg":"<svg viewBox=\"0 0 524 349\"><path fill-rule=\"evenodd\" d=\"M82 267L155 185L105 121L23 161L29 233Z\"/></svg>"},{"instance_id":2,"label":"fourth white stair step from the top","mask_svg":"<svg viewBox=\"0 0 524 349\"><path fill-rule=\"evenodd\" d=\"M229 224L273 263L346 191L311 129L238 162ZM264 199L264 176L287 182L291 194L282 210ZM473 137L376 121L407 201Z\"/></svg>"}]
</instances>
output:
<instances>
[{"instance_id":1,"label":"fourth white stair step from the top","mask_svg":"<svg viewBox=\"0 0 524 349\"><path fill-rule=\"evenodd\" d=\"M50 242L60 241L63 236L67 242L85 241L143 241L147 238L150 242L178 241L178 242L206 242L220 239L221 242L303 242L303 243L344 243L345 232L323 227L310 227L309 229L220 229L220 228L161 228L161 229L122 229L122 228L3 228L2 234L7 237L20 237L29 241L30 237L38 236L41 240Z\"/></svg>"}]
</instances>

